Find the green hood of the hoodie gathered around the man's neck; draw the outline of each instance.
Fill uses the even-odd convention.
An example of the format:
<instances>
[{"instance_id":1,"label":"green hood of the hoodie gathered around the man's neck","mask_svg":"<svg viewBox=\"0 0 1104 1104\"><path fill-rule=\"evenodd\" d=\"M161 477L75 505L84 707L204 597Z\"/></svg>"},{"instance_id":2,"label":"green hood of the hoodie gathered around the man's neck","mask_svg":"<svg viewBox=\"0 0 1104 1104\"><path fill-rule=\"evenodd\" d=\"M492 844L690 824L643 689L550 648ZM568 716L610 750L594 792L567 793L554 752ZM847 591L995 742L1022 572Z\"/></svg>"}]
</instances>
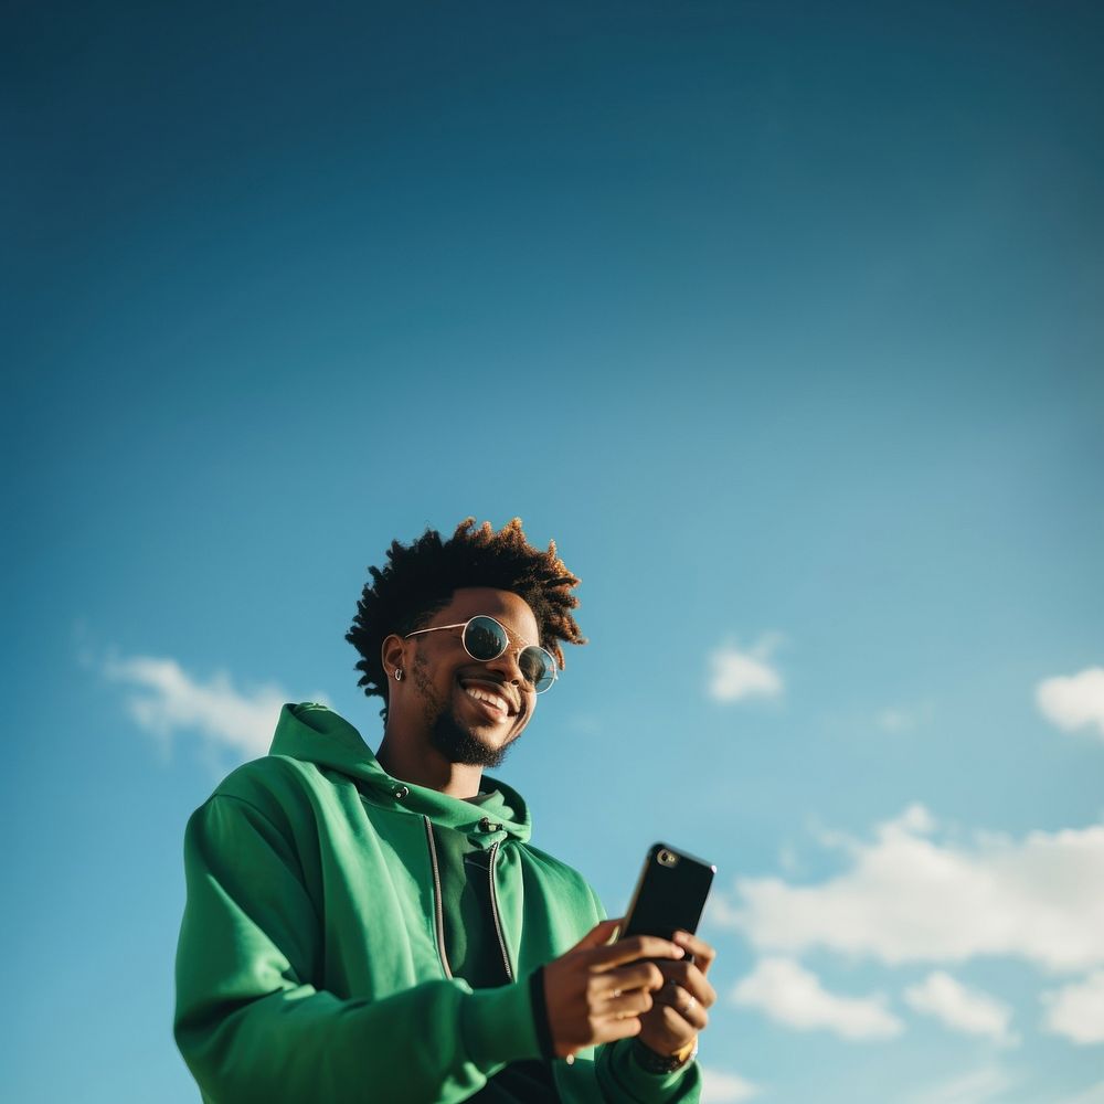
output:
<instances>
[{"instance_id":1,"label":"green hood of the hoodie gathered around the man's neck","mask_svg":"<svg viewBox=\"0 0 1104 1104\"><path fill-rule=\"evenodd\" d=\"M524 843L532 831L528 805L505 783L484 775L482 794L486 796L480 796L476 803L393 778L380 766L364 737L344 718L316 702L287 704L280 710L268 754L337 771L351 778L362 796L373 804L426 816L436 825L477 838L480 846L489 846L505 837Z\"/></svg>"}]
</instances>

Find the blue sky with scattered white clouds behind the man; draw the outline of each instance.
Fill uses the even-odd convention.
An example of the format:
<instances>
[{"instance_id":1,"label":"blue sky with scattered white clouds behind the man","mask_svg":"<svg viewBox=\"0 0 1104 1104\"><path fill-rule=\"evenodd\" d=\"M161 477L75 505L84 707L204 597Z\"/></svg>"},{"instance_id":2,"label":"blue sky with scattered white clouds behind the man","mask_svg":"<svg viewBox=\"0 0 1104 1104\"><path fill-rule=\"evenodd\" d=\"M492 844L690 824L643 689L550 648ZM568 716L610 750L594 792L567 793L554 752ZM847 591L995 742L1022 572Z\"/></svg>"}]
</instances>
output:
<instances>
[{"instance_id":1,"label":"blue sky with scattered white clouds behind the man","mask_svg":"<svg viewBox=\"0 0 1104 1104\"><path fill-rule=\"evenodd\" d=\"M197 1098L184 820L474 514L539 846L719 867L708 1102L1104 1102L1096 6L6 21L7 1098Z\"/></svg>"}]
</instances>

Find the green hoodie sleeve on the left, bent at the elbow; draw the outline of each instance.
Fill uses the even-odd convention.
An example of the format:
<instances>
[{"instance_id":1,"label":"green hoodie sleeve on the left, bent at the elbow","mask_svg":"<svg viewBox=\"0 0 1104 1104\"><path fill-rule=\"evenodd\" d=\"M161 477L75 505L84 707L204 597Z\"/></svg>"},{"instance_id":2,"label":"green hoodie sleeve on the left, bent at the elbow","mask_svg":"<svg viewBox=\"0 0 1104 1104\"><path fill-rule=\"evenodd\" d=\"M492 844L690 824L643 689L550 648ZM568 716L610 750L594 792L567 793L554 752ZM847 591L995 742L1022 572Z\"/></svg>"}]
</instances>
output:
<instances>
[{"instance_id":1,"label":"green hoodie sleeve on the left, bent at the elbow","mask_svg":"<svg viewBox=\"0 0 1104 1104\"><path fill-rule=\"evenodd\" d=\"M339 999L294 849L252 805L216 796L189 821L174 1033L211 1104L453 1104L538 1058L528 978L473 990L436 980Z\"/></svg>"}]
</instances>

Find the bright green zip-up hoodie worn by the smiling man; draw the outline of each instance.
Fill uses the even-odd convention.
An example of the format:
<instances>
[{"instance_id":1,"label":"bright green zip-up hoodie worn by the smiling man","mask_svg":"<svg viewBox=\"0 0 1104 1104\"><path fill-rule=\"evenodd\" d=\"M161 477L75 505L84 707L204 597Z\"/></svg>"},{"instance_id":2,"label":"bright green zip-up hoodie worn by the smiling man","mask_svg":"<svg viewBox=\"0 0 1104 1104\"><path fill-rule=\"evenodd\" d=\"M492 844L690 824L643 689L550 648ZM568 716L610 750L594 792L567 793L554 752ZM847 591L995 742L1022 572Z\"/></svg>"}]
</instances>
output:
<instances>
[{"instance_id":1,"label":"bright green zip-up hoodie worn by the smiling man","mask_svg":"<svg viewBox=\"0 0 1104 1104\"><path fill-rule=\"evenodd\" d=\"M530 846L520 795L491 784L500 822L390 777L323 705L284 707L268 756L233 772L184 839L174 1030L204 1101L452 1104L540 1058L529 976L603 911L578 873ZM512 984L449 976L431 825L493 849ZM629 1040L554 1074L572 1104L689 1104L700 1082L694 1064L646 1073Z\"/></svg>"}]
</instances>

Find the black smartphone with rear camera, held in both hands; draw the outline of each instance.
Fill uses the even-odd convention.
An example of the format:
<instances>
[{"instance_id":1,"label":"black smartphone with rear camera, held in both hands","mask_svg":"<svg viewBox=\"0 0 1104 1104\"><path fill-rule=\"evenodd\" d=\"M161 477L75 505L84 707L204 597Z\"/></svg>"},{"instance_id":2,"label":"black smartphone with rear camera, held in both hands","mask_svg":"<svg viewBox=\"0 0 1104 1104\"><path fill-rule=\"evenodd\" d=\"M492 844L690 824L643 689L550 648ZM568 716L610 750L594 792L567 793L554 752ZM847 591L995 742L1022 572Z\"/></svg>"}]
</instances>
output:
<instances>
[{"instance_id":1,"label":"black smartphone with rear camera, held in both hands","mask_svg":"<svg viewBox=\"0 0 1104 1104\"><path fill-rule=\"evenodd\" d=\"M716 867L654 843L644 860L619 938L658 935L669 940L677 931L697 932Z\"/></svg>"}]
</instances>

